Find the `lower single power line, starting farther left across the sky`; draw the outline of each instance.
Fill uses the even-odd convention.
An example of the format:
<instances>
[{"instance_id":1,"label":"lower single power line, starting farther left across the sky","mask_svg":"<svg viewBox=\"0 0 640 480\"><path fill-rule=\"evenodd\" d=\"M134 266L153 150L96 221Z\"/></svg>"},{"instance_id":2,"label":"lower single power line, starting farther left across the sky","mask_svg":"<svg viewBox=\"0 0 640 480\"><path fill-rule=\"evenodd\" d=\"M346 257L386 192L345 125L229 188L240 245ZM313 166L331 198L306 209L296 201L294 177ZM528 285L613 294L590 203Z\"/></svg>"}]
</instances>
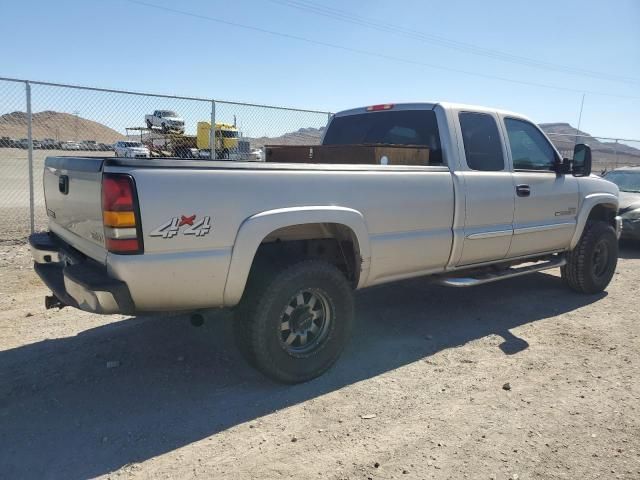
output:
<instances>
[{"instance_id":1,"label":"lower single power line, starting farther left across the sky","mask_svg":"<svg viewBox=\"0 0 640 480\"><path fill-rule=\"evenodd\" d=\"M313 44L313 45L319 45L319 46L323 46L323 47L328 47L328 48L333 48L335 50L342 50L345 52L351 52L351 53L357 53L359 55L366 55L369 57L374 57L374 58L381 58L383 60L392 60L395 62L401 62L401 63L406 63L409 65L417 65L417 66L422 66L422 67L427 67L427 68L433 68L433 69L437 69L437 70L443 70L443 71L447 71L447 72L452 72L452 73L460 73L463 75L472 75L475 77L480 77L480 78L486 78L486 79L490 79L490 80L500 80L502 82L509 82L509 83L514 83L514 84L518 84L518 85L528 85L528 86L532 86L532 87L540 87L540 88L548 88L548 89L553 89L553 90L562 90L562 91L566 91L566 92L572 92L572 93L588 93L591 95L602 95L602 96L608 96L608 97L618 97L618 98L626 98L626 99L633 99L633 100L640 100L640 97L633 97L630 95L620 95L620 94L614 94L614 93L605 93L605 92L595 92L595 91L589 91L589 90L581 90L581 89L575 89L575 88L570 88L570 87L561 87L561 86L557 86L557 85L548 85L548 84L544 84L544 83L537 83L537 82L531 82L531 81L527 81L527 80L516 80L516 79L512 79L512 78L506 78L506 77L500 77L497 75L490 75L490 74L485 74L485 73L478 73L478 72L472 72L472 71L468 71L468 70L462 70L462 69L458 69L458 68L453 68L453 67L445 67L442 65L434 65L431 63L426 63L426 62L421 62L418 60L412 60L409 58L402 58L402 57L396 57L393 55L387 55L384 53L379 53L379 52L373 52L370 50L362 50L359 48L353 48L353 47L346 47L344 45L337 45L334 43L329 43L329 42L324 42L321 40L313 40L310 38L306 38L306 37L301 37L299 35L293 35L290 33L284 33L284 32L277 32L274 30L267 30L265 28L262 27L256 27L253 25L245 25L242 23L237 23L237 22L232 22L229 20L223 20L221 18L216 18L216 17L210 17L208 15L203 15L200 13L193 13L193 12L187 12L184 10L178 10L176 8L172 8L172 7L165 7L165 6L161 6L161 5L155 5L153 3L147 3L145 1L142 0L125 0L126 2L129 3L133 3L136 5L140 5L140 6L144 6L144 7L148 7L148 8L154 8L157 10L162 10L165 12L169 12L169 13L174 13L177 15L183 15L183 16L187 16L187 17L192 17L192 18L198 18L201 20L207 20L210 22L215 22L221 25L227 25L230 27L236 27L236 28L241 28L244 30L251 30L254 32L260 32L260 33L265 33L268 35L273 35L273 36L277 36L277 37L281 37L281 38L286 38L289 40L297 40L300 42L305 42L305 43L309 43L309 44Z\"/></svg>"}]
</instances>

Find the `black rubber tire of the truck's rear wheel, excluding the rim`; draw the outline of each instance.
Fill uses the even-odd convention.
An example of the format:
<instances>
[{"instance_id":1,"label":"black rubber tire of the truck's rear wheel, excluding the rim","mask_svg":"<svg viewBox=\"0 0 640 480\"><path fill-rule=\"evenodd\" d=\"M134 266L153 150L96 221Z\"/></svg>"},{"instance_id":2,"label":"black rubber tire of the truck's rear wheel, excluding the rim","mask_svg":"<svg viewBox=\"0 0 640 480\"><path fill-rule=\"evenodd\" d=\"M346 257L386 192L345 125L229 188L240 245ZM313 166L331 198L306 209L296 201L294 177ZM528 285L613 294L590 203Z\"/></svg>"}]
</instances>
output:
<instances>
[{"instance_id":1,"label":"black rubber tire of the truck's rear wheel, excluding the rim","mask_svg":"<svg viewBox=\"0 0 640 480\"><path fill-rule=\"evenodd\" d=\"M297 354L283 344L281 322L291 300L303 291L318 292L331 317L323 340L313 350ZM273 272L252 272L236 308L236 344L247 362L267 377L306 382L336 362L350 337L353 313L351 285L327 262L306 260Z\"/></svg>"}]
</instances>

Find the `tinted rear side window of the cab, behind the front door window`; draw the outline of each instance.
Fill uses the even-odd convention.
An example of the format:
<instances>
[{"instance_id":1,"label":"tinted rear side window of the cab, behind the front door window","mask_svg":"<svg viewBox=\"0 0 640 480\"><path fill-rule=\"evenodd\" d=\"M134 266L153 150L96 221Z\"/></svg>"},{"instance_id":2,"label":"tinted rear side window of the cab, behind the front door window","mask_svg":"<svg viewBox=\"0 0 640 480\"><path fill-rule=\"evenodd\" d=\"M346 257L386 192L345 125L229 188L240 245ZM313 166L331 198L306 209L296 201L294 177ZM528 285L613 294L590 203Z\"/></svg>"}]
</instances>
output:
<instances>
[{"instance_id":1,"label":"tinted rear side window of the cab, behind the front door window","mask_svg":"<svg viewBox=\"0 0 640 480\"><path fill-rule=\"evenodd\" d=\"M459 119L469 168L483 172L504 170L502 143L495 119L476 112L460 112Z\"/></svg>"}]
</instances>

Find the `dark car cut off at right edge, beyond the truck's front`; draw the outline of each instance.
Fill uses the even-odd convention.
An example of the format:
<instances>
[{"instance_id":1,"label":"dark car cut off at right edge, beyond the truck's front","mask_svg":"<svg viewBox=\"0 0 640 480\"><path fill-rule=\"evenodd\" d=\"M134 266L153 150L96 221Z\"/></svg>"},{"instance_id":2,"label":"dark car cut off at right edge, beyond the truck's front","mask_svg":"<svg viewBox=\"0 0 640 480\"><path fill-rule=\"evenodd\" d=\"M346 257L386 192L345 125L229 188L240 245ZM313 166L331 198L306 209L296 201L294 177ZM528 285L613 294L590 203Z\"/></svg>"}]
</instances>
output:
<instances>
[{"instance_id":1,"label":"dark car cut off at right edge, beyond the truck's front","mask_svg":"<svg viewBox=\"0 0 640 480\"><path fill-rule=\"evenodd\" d=\"M617 168L603 178L620 189L622 238L640 240L640 167Z\"/></svg>"}]
</instances>

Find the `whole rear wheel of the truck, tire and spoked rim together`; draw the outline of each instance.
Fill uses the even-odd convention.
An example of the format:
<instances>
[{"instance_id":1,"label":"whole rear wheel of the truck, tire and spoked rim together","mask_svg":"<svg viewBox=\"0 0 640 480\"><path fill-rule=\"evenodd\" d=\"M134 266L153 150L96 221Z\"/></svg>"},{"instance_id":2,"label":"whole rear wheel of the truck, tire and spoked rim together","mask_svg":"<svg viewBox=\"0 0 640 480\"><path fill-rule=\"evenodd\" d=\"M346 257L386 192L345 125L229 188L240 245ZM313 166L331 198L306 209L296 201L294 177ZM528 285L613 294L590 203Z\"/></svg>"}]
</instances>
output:
<instances>
[{"instance_id":1,"label":"whole rear wheel of the truck, tire and spoked rim together","mask_svg":"<svg viewBox=\"0 0 640 480\"><path fill-rule=\"evenodd\" d=\"M327 262L308 260L252 277L234 326L243 356L283 383L322 375L351 333L353 291L345 276Z\"/></svg>"}]
</instances>

